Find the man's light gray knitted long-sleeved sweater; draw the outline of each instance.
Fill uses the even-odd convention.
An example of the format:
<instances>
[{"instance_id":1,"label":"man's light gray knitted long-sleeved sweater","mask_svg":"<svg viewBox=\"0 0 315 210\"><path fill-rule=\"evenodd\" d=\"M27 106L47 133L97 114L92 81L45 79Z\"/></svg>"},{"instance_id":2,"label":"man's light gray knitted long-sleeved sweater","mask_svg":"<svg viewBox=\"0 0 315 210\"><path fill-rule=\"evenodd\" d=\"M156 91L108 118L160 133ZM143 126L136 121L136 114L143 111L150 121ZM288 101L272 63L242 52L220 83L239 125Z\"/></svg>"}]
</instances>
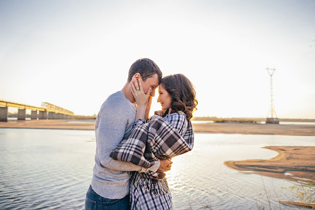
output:
<instances>
[{"instance_id":1,"label":"man's light gray knitted long-sleeved sweater","mask_svg":"<svg viewBox=\"0 0 315 210\"><path fill-rule=\"evenodd\" d=\"M160 161L149 169L131 162L112 159L109 154L131 132L136 108L121 91L109 96L103 103L95 121L95 166L91 181L92 189L102 197L124 198L129 194L128 171L156 172Z\"/></svg>"}]
</instances>

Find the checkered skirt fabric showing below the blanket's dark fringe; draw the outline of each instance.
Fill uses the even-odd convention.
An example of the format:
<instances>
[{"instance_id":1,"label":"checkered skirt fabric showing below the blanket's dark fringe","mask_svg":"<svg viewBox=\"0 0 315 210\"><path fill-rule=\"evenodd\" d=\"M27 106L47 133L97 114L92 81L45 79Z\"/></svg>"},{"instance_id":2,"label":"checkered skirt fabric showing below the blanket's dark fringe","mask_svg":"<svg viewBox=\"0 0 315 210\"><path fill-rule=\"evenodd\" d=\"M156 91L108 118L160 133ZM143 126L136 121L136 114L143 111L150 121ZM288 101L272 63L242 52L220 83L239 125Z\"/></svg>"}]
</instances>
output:
<instances>
[{"instance_id":1,"label":"checkered skirt fabric showing below the blanket's dark fringe","mask_svg":"<svg viewBox=\"0 0 315 210\"><path fill-rule=\"evenodd\" d=\"M140 177L140 178L145 179L143 177ZM144 181L142 181L141 183L144 183ZM158 191L158 193L155 194L155 193L152 193L150 190L146 190L143 185L140 185L137 187L134 181L131 181L130 207L131 209L137 209L137 210L139 209L150 209L150 210L151 209L154 209L154 210L173 209L171 191L168 190L168 192L165 194Z\"/></svg>"}]
</instances>

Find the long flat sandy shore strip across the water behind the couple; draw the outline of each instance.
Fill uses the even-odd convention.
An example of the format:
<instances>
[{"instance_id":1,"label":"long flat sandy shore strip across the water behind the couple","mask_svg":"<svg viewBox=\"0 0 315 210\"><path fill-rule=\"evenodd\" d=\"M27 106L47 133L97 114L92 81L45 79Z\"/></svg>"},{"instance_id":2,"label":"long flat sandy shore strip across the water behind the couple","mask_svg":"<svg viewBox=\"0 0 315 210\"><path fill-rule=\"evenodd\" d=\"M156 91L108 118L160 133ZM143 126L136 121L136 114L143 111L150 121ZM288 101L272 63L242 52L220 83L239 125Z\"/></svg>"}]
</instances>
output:
<instances>
[{"instance_id":1,"label":"long flat sandy shore strip across the water behind the couple","mask_svg":"<svg viewBox=\"0 0 315 210\"><path fill-rule=\"evenodd\" d=\"M252 123L192 124L196 133L315 135L315 125L274 125ZM94 121L28 120L0 122L0 128L46 128L94 130Z\"/></svg>"}]
</instances>

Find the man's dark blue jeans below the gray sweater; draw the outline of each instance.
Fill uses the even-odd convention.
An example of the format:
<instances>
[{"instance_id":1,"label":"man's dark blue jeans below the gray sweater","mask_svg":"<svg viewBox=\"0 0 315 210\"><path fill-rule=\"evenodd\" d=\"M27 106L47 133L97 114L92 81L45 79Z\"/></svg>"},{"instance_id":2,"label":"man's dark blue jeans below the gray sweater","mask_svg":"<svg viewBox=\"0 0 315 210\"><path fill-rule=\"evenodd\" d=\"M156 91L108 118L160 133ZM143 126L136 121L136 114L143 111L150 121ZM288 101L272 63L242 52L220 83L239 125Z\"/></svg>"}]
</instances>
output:
<instances>
[{"instance_id":1,"label":"man's dark blue jeans below the gray sweater","mask_svg":"<svg viewBox=\"0 0 315 210\"><path fill-rule=\"evenodd\" d=\"M129 204L129 195L125 196L124 198L120 199L109 199L104 198L97 193L95 193L90 185L89 189L86 193L85 198L85 209L122 209L128 210L130 209Z\"/></svg>"}]
</instances>

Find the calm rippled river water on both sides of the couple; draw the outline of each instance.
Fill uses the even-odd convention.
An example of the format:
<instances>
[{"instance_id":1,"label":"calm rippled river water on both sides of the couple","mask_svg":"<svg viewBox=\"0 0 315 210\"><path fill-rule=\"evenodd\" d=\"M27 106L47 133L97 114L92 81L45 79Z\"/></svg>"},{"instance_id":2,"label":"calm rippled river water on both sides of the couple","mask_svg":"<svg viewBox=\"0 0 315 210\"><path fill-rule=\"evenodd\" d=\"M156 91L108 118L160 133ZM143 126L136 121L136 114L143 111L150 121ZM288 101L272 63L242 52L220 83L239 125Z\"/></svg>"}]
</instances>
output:
<instances>
[{"instance_id":1,"label":"calm rippled river water on both sides of the couple","mask_svg":"<svg viewBox=\"0 0 315 210\"><path fill-rule=\"evenodd\" d=\"M94 131L0 129L0 209L83 209L94 138ZM277 152L261 147L281 145L315 146L315 136L196 134L193 150L173 158L166 175L174 209L269 209L263 183L272 209L278 198L296 200L288 189L294 182L223 164L270 159Z\"/></svg>"}]
</instances>

